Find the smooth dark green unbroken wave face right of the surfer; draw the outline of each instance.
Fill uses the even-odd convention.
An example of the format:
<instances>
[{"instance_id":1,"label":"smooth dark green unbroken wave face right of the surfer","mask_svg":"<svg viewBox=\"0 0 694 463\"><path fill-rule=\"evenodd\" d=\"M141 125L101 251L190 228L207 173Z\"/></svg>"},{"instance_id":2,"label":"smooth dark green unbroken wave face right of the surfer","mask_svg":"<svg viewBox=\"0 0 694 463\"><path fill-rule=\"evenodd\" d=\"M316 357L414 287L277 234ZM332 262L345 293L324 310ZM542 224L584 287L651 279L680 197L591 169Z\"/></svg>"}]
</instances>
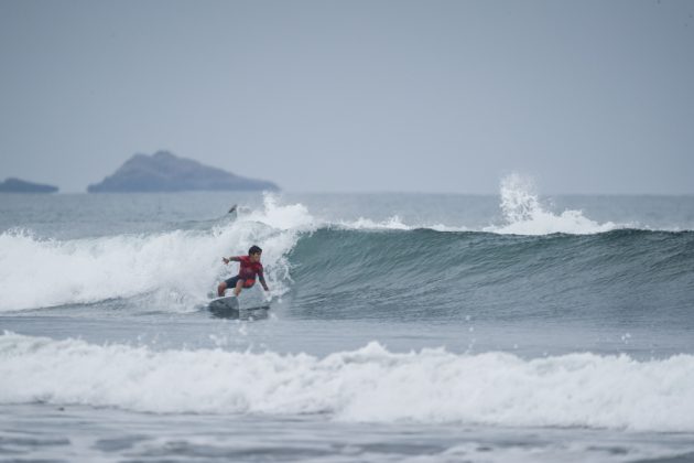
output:
<instances>
[{"instance_id":1,"label":"smooth dark green unbroken wave face right of the surfer","mask_svg":"<svg viewBox=\"0 0 694 463\"><path fill-rule=\"evenodd\" d=\"M290 255L295 304L335 317L628 317L694 325L694 233L319 229ZM682 315L682 316L680 316ZM672 319L669 319L669 317Z\"/></svg>"}]
</instances>

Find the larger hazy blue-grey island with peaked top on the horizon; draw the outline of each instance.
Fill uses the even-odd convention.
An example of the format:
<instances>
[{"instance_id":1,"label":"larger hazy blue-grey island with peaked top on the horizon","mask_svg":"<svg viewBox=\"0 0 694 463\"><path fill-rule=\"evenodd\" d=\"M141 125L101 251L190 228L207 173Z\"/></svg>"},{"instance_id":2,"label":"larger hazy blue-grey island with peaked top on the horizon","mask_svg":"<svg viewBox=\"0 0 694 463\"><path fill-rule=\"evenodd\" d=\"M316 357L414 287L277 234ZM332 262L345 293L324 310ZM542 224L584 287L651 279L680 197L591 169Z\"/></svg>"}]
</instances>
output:
<instances>
[{"instance_id":1,"label":"larger hazy blue-grey island with peaked top on the horizon","mask_svg":"<svg viewBox=\"0 0 694 463\"><path fill-rule=\"evenodd\" d=\"M135 154L112 175L87 187L89 193L154 193L183 191L276 191L279 186L264 180L235 175L178 158L169 151L152 155Z\"/></svg>"}]
</instances>

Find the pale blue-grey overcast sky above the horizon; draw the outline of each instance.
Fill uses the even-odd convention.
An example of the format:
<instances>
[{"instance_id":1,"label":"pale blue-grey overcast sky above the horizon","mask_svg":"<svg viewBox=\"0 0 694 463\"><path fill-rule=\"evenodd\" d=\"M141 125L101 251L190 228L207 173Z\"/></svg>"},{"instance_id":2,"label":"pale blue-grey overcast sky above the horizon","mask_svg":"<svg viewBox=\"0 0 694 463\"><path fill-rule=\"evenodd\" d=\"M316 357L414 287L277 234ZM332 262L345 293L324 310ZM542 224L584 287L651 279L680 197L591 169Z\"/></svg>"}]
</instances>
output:
<instances>
[{"instance_id":1,"label":"pale blue-grey overcast sky above the horizon","mask_svg":"<svg viewBox=\"0 0 694 463\"><path fill-rule=\"evenodd\" d=\"M0 0L0 181L694 193L694 1Z\"/></svg>"}]
</instances>

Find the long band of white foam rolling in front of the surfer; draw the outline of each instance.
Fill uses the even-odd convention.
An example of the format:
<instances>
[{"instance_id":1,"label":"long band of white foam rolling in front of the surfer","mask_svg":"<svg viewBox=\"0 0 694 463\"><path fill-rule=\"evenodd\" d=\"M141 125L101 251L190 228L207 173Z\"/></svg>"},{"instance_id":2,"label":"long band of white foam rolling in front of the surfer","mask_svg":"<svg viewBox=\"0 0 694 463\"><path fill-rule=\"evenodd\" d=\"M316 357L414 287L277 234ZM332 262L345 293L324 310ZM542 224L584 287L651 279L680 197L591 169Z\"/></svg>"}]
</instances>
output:
<instances>
[{"instance_id":1,"label":"long band of white foam rolling in front of the surfer","mask_svg":"<svg viewBox=\"0 0 694 463\"><path fill-rule=\"evenodd\" d=\"M163 351L6 333L0 402L149 412L327 413L350 422L460 422L694 431L694 356L406 354L378 343L306 354Z\"/></svg>"}]
</instances>

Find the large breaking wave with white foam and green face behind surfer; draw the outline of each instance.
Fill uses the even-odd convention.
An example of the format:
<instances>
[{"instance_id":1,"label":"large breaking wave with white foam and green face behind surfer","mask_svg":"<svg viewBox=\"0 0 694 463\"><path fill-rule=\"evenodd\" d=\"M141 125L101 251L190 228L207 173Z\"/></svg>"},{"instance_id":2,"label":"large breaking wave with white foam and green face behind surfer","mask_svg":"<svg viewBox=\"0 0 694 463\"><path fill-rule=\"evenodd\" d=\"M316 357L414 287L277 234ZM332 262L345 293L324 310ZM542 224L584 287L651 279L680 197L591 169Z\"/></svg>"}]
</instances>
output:
<instances>
[{"instance_id":1,"label":"large breaking wave with white foam and green face behind surfer","mask_svg":"<svg viewBox=\"0 0 694 463\"><path fill-rule=\"evenodd\" d=\"M191 311L235 271L220 257L253 244L264 249L272 297L292 292L308 316L326 306L324 316L360 317L451 316L462 304L601 311L625 298L636 311L691 306L694 233L553 214L517 175L500 197L503 223L477 230L397 216L328 222L271 195L202 229L66 240L9 230L0 234L0 311L132 298L148 310Z\"/></svg>"}]
</instances>

